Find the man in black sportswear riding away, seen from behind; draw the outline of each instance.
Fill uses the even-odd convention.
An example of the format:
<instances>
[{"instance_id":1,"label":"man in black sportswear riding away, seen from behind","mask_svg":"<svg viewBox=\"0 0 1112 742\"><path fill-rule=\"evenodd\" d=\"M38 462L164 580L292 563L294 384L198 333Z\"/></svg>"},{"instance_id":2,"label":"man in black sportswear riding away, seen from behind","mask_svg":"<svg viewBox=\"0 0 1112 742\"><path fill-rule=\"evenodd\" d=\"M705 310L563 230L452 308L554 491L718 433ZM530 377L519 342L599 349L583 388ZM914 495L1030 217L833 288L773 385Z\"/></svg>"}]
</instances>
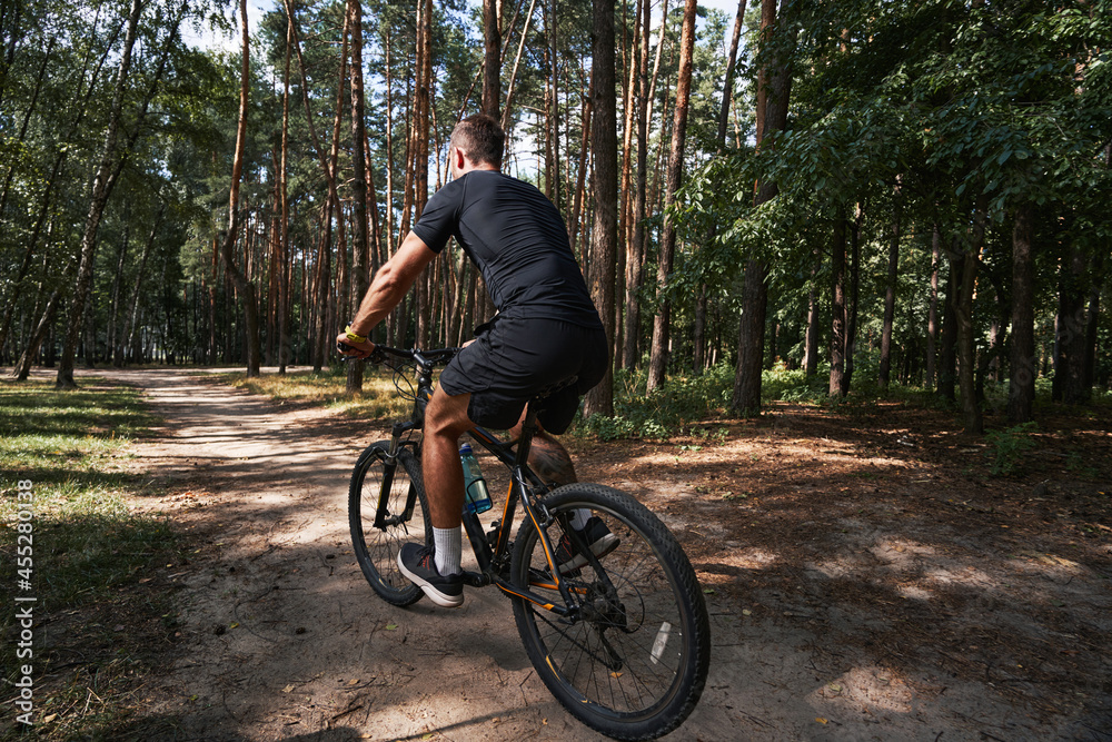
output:
<instances>
[{"instance_id":1,"label":"man in black sportswear riding away, seen from behind","mask_svg":"<svg viewBox=\"0 0 1112 742\"><path fill-rule=\"evenodd\" d=\"M337 343L345 355L366 358L367 337L409 291L421 270L455 237L478 267L498 314L475 330L440 374L425 410L421 473L428 494L434 546L406 544L401 572L435 603L463 603L461 513L464 474L459 437L478 425L520 433L525 405L543 389L564 383L539 415L529 465L542 477L567 484L575 469L567 451L548 433L572 423L579 396L606 370L608 343L598 313L572 254L556 207L535 187L502 172L505 133L489 116L460 121L448 148L453 180L425 206L401 247L375 274L359 309ZM617 543L589 511L570 525L596 555ZM562 571L577 566L567 536L557 545Z\"/></svg>"}]
</instances>

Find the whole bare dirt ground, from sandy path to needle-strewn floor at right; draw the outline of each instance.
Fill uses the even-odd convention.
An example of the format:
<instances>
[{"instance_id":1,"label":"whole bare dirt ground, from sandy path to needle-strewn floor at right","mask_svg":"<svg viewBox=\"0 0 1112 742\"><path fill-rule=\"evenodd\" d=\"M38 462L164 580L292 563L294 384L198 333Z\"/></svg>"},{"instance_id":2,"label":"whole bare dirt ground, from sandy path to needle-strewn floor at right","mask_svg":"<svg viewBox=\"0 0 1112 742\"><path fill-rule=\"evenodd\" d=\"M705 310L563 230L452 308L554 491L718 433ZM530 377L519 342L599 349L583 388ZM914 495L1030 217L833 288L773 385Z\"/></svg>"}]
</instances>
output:
<instances>
[{"instance_id":1,"label":"whole bare dirt ground, from sandy path to needle-strewn floor at right","mask_svg":"<svg viewBox=\"0 0 1112 742\"><path fill-rule=\"evenodd\" d=\"M158 485L136 506L183 540L142 581L177 620L120 634L152 659L112 739L602 739L544 687L497 591L456 611L375 596L347 484L386 424L202 370L97 374L162 418L132 448ZM1112 410L1041 415L1009 477L956 427L774 404L705 436L567 436L579 478L655 511L704 586L709 679L667 739L1112 740Z\"/></svg>"}]
</instances>

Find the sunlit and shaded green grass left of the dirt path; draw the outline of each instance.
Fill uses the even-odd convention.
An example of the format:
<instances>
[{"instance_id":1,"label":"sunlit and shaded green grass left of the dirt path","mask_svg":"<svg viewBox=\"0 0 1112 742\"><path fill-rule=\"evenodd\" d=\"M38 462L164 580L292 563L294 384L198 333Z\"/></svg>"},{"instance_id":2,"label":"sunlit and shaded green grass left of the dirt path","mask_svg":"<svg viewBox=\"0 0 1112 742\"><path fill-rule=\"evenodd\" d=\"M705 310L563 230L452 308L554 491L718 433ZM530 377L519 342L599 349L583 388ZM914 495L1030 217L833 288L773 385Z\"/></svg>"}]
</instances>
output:
<instances>
[{"instance_id":1,"label":"sunlit and shaded green grass left of the dirt path","mask_svg":"<svg viewBox=\"0 0 1112 742\"><path fill-rule=\"evenodd\" d=\"M143 583L179 557L178 542L165 518L136 511L141 486L126 471L128 443L152 422L135 389L95 379L76 392L0 382L0 585L37 598L36 739L110 739L137 679L158 661L155 639L172 629L169 592ZM29 591L17 582L27 576L16 561L26 545L17 530L20 482L33 493ZM9 682L28 662L7 641L14 624L9 602L0 613ZM22 732L6 724L0 739Z\"/></svg>"}]
</instances>

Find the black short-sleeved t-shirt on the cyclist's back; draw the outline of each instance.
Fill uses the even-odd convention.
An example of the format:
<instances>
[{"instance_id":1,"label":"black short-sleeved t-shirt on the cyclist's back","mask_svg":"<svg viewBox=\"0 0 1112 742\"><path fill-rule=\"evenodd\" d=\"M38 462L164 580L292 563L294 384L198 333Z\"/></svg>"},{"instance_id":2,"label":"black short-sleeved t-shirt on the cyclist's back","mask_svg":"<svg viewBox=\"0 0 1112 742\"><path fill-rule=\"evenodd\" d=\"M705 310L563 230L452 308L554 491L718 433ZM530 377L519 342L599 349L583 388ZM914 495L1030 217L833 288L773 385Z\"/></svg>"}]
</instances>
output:
<instances>
[{"instance_id":1,"label":"black short-sleeved t-shirt on the cyclist's back","mask_svg":"<svg viewBox=\"0 0 1112 742\"><path fill-rule=\"evenodd\" d=\"M414 233L436 253L455 237L500 314L600 325L564 220L527 182L471 170L428 200Z\"/></svg>"}]
</instances>

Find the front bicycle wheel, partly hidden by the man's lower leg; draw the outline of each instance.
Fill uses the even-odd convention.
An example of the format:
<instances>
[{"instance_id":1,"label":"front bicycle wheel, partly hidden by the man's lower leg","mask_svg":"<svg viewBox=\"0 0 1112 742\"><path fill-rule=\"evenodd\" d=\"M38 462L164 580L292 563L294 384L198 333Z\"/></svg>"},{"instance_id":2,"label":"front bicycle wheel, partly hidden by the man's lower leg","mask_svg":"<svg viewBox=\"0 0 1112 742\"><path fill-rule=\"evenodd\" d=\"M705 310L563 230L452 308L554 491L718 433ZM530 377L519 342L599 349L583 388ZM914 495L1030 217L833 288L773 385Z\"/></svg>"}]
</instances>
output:
<instances>
[{"instance_id":1,"label":"front bicycle wheel, partly hidden by the man's lower leg","mask_svg":"<svg viewBox=\"0 0 1112 742\"><path fill-rule=\"evenodd\" d=\"M379 441L359 456L348 488L348 522L367 582L386 602L410 605L424 593L398 570L398 552L410 541L433 543L433 523L416 456L401 448L390 459L389 449L389 441ZM383 522L376 526L380 502Z\"/></svg>"}]
</instances>

